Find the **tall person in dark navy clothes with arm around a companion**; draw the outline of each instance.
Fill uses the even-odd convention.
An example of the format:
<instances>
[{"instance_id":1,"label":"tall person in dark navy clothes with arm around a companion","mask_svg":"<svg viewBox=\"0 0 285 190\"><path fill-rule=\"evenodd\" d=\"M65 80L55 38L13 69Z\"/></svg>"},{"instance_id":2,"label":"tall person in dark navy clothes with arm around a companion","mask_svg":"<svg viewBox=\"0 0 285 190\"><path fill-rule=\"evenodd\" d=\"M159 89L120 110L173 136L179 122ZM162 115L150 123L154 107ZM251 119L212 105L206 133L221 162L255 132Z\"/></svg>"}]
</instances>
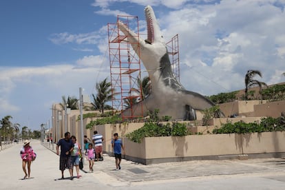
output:
<instances>
[{"instance_id":1,"label":"tall person in dark navy clothes with arm around a companion","mask_svg":"<svg viewBox=\"0 0 285 190\"><path fill-rule=\"evenodd\" d=\"M72 179L72 159L71 159L71 151L73 150L74 144L70 139L70 132L66 132L64 134L64 138L59 140L56 145L56 154L59 155L59 147L61 147L61 154L59 156L59 169L61 170L61 179L64 178L63 171L65 169L70 170L70 178Z\"/></svg>"}]
</instances>

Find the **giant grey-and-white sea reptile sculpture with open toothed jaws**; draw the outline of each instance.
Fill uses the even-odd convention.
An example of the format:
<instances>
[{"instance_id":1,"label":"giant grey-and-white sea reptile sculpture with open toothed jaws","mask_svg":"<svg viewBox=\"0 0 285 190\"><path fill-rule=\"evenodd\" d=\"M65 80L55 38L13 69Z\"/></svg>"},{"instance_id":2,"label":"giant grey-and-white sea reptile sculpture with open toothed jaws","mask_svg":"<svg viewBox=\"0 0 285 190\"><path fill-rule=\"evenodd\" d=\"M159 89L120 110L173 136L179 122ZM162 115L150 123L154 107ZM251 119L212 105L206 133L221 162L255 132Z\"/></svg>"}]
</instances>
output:
<instances>
[{"instance_id":1,"label":"giant grey-and-white sea reptile sculpture with open toothed jaws","mask_svg":"<svg viewBox=\"0 0 285 190\"><path fill-rule=\"evenodd\" d=\"M118 28L122 31L136 54L140 55L142 63L148 71L151 81L151 94L144 101L134 105L133 114L140 112L142 104L143 115L147 111L159 109L160 116L171 116L171 119L196 120L195 110L212 107L214 103L201 94L184 89L173 76L167 46L156 21L154 10L151 6L145 8L147 20L147 39L138 39L138 35L127 28L123 22L118 22ZM140 49L138 49L140 48ZM125 110L125 116L131 116L131 112Z\"/></svg>"}]
</instances>

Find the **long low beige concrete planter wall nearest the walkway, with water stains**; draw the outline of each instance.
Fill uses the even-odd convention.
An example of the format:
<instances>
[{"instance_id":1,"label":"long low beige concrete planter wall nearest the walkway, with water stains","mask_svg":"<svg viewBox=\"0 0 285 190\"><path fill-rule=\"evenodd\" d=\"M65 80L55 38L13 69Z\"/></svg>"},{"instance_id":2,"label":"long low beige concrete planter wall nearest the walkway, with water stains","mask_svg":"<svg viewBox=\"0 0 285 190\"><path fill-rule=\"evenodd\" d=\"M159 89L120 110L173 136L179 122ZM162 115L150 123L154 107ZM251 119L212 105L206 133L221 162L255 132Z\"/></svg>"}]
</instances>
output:
<instances>
[{"instance_id":1,"label":"long low beige concrete planter wall nearest the walkway, with water stains","mask_svg":"<svg viewBox=\"0 0 285 190\"><path fill-rule=\"evenodd\" d=\"M210 134L144 138L141 143L124 139L127 160L149 165L201 159L233 159L285 156L285 132Z\"/></svg>"}]
</instances>

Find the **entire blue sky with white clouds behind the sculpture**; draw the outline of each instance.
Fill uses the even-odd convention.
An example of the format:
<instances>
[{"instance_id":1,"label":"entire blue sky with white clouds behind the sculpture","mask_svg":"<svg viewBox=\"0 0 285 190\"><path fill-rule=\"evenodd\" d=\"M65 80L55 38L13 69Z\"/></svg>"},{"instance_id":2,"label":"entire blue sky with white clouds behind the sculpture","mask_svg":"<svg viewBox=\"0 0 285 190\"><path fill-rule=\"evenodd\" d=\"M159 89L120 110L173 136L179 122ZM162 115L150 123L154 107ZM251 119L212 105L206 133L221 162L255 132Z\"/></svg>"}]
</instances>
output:
<instances>
[{"instance_id":1,"label":"entire blue sky with white clouds behind the sculpture","mask_svg":"<svg viewBox=\"0 0 285 190\"><path fill-rule=\"evenodd\" d=\"M247 70L285 81L285 0L1 0L0 119L40 130L62 96L96 94L110 80L107 24L131 15L144 28L147 5L165 39L178 34L185 89L244 89Z\"/></svg>"}]
</instances>

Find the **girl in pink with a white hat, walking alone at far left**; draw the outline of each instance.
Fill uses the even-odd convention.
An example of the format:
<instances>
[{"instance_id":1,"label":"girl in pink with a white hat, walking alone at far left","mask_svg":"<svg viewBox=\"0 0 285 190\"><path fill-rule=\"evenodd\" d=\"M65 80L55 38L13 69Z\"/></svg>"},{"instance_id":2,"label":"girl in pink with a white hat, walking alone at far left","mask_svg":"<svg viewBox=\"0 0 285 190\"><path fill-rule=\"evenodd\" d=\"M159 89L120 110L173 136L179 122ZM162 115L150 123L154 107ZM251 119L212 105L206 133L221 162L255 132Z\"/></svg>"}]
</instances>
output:
<instances>
[{"instance_id":1,"label":"girl in pink with a white hat, walking alone at far left","mask_svg":"<svg viewBox=\"0 0 285 190\"><path fill-rule=\"evenodd\" d=\"M22 158L23 172L25 173L23 180L25 180L26 178L30 178L31 163L32 163L32 160L34 160L34 158L36 158L36 154L34 153L34 150L32 149L32 147L30 146L29 140L24 141L24 145L21 148L20 154L21 154L21 158ZM28 163L28 173L25 169L25 166L27 165L27 163Z\"/></svg>"}]
</instances>

